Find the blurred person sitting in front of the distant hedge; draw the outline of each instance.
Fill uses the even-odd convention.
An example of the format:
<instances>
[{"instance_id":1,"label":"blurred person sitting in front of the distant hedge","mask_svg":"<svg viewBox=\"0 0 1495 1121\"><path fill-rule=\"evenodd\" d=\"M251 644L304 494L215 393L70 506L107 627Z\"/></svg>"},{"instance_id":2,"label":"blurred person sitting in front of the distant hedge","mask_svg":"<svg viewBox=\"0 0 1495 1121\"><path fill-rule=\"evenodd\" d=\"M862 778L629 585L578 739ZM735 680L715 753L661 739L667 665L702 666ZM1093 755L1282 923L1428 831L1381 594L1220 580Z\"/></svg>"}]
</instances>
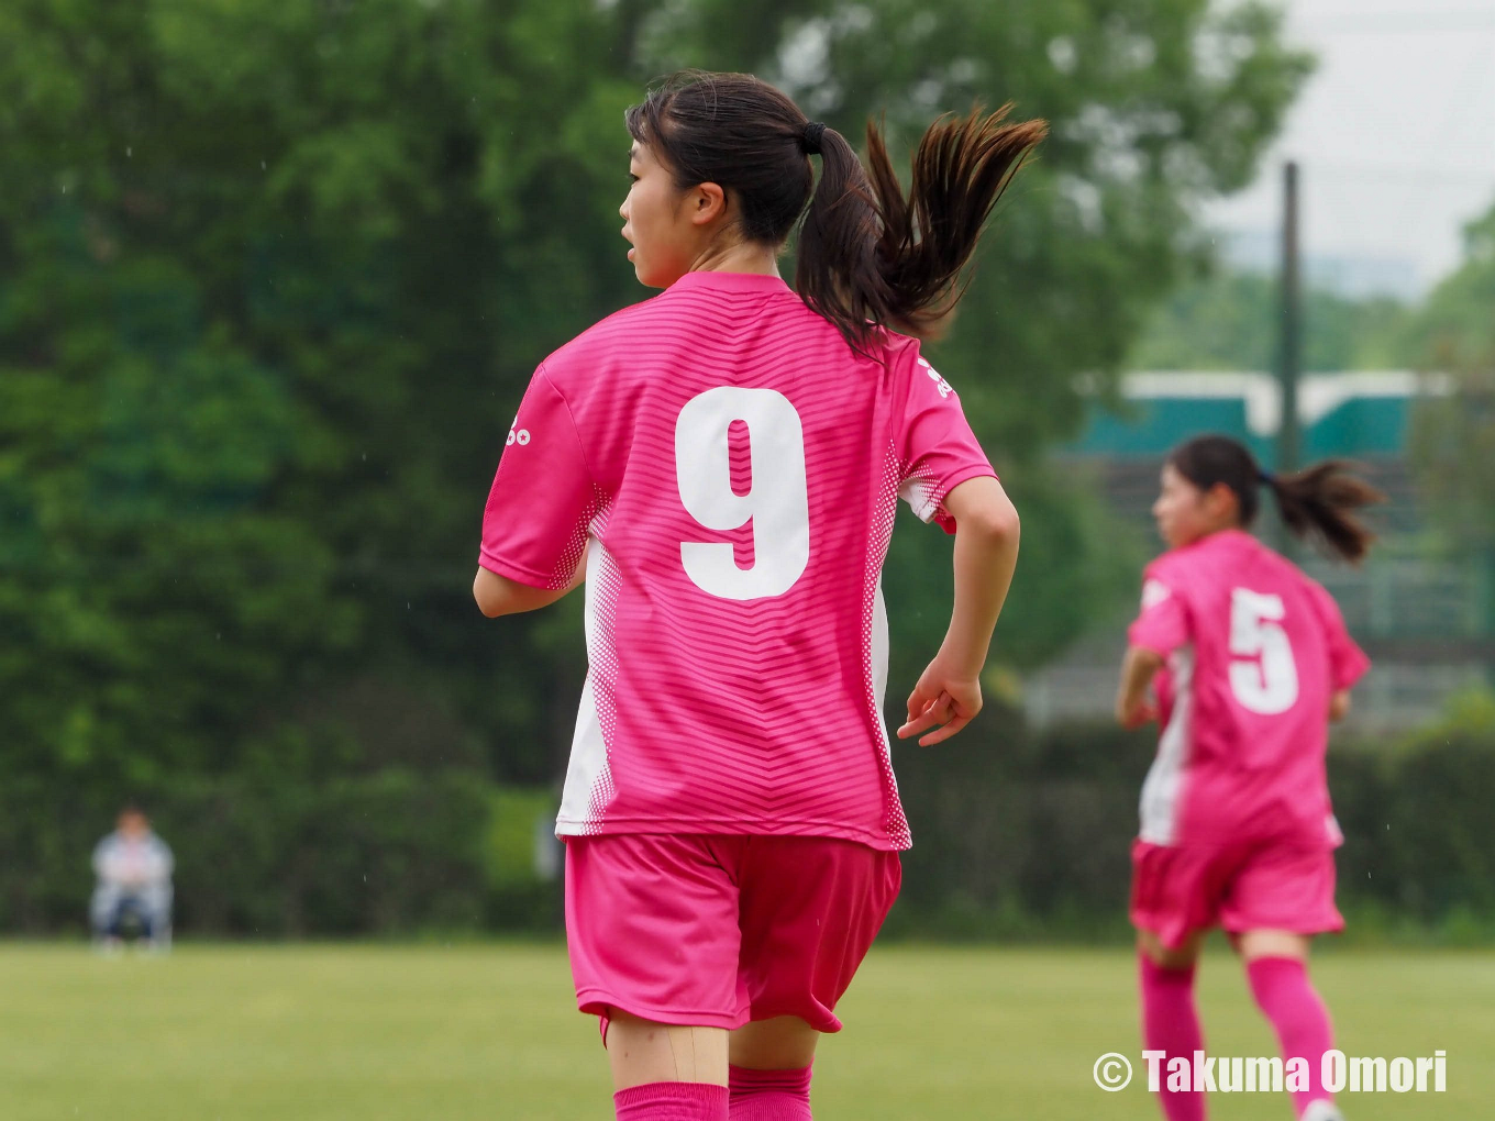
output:
<instances>
[{"instance_id":1,"label":"blurred person sitting in front of the distant hedge","mask_svg":"<svg viewBox=\"0 0 1495 1121\"><path fill-rule=\"evenodd\" d=\"M151 833L136 806L120 812L118 828L94 849L94 888L88 915L94 939L106 949L121 945L126 919L141 928L152 949L166 949L172 937L172 850Z\"/></svg>"}]
</instances>

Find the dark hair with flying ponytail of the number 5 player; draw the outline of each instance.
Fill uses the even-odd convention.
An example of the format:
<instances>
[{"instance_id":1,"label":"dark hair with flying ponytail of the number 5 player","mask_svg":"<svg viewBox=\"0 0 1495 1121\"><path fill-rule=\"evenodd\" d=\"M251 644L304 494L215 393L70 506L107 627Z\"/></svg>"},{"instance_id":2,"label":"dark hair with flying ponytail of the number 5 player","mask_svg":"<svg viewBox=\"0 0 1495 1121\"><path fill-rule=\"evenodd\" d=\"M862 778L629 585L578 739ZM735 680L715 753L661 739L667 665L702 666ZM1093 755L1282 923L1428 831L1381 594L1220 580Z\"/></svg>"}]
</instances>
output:
<instances>
[{"instance_id":1,"label":"dark hair with flying ponytail of the number 5 player","mask_svg":"<svg viewBox=\"0 0 1495 1121\"><path fill-rule=\"evenodd\" d=\"M1326 459L1293 474L1272 475L1257 466L1239 441L1196 436L1180 444L1168 462L1200 490L1223 483L1241 504L1241 525L1250 526L1260 508L1259 487L1277 498L1283 522L1295 537L1310 538L1344 560L1359 560L1375 540L1354 511L1386 496L1343 459Z\"/></svg>"}]
</instances>

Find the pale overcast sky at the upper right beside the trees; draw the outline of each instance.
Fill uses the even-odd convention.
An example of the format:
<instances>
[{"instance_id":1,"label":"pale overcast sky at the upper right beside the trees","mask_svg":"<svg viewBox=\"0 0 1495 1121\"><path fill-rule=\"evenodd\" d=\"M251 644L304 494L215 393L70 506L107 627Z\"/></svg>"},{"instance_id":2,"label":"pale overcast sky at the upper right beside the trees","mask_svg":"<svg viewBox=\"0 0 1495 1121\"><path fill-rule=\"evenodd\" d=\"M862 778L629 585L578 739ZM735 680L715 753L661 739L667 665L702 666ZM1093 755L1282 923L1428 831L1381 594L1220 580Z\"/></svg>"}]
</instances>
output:
<instances>
[{"instance_id":1,"label":"pale overcast sky at the upper right beside the trees","mask_svg":"<svg viewBox=\"0 0 1495 1121\"><path fill-rule=\"evenodd\" d=\"M1495 0L1281 1L1319 69L1257 182L1208 218L1277 230L1296 158L1305 253L1401 259L1432 285L1495 203Z\"/></svg>"}]
</instances>

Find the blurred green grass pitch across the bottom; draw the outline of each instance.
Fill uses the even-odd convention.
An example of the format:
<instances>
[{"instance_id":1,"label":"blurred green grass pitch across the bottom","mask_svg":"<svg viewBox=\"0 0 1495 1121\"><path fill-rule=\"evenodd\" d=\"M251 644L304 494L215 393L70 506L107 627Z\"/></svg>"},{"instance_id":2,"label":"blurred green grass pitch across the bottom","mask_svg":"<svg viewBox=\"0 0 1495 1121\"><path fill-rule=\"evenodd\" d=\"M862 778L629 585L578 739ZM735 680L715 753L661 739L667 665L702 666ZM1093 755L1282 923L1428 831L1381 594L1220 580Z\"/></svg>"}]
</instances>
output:
<instances>
[{"instance_id":1,"label":"blurred green grass pitch across the bottom","mask_svg":"<svg viewBox=\"0 0 1495 1121\"><path fill-rule=\"evenodd\" d=\"M1156 1121L1123 951L873 951L827 1039L816 1117ZM1326 954L1348 1054L1447 1055L1444 1094L1343 1096L1348 1121L1495 1109L1495 954ZM1274 1054L1235 961L1205 961L1211 1052ZM605 1121L594 1021L558 946L0 946L4 1121ZM1138 1079L1091 1082L1106 1051ZM1290 1121L1286 1097L1211 1117Z\"/></svg>"}]
</instances>

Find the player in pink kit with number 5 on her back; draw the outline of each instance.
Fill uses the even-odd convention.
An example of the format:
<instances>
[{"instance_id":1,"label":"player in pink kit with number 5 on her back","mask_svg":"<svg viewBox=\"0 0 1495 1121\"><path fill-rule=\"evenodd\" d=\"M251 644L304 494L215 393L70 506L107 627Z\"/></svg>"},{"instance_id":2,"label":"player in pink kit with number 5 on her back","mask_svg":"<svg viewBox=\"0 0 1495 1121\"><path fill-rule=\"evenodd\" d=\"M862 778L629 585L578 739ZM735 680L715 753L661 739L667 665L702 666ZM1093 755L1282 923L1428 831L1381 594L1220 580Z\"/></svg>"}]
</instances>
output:
<instances>
[{"instance_id":1,"label":"player in pink kit with number 5 on her back","mask_svg":"<svg viewBox=\"0 0 1495 1121\"><path fill-rule=\"evenodd\" d=\"M1195 966L1221 925L1284 1066L1307 1060L1298 1117L1338 1121L1320 1079L1329 1015L1307 963L1314 934L1344 927L1325 750L1369 662L1329 593L1250 535L1263 487L1295 535L1341 559L1372 540L1353 511L1380 495L1340 462L1274 477L1235 439L1200 436L1163 466L1153 516L1169 552L1147 568L1117 697L1123 725L1163 728L1132 849L1142 1036L1169 1060L1203 1049ZM1162 1106L1169 1121L1205 1117L1203 1093L1166 1079Z\"/></svg>"}]
</instances>

